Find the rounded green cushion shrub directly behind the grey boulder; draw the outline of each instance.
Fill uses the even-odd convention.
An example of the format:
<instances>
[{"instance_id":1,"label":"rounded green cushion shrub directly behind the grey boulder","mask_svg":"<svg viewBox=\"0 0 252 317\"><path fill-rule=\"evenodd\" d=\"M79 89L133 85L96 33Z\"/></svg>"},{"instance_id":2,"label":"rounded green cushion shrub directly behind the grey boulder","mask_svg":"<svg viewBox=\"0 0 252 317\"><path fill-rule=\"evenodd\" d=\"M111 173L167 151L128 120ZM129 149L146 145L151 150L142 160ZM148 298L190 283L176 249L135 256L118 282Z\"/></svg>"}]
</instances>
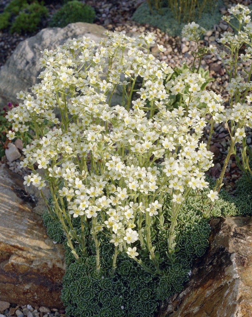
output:
<instances>
[{"instance_id":1,"label":"rounded green cushion shrub directly behind the grey boulder","mask_svg":"<svg viewBox=\"0 0 252 317\"><path fill-rule=\"evenodd\" d=\"M94 19L95 11L90 5L73 0L63 5L63 7L52 16L49 26L64 28L69 23L93 23Z\"/></svg>"}]
</instances>

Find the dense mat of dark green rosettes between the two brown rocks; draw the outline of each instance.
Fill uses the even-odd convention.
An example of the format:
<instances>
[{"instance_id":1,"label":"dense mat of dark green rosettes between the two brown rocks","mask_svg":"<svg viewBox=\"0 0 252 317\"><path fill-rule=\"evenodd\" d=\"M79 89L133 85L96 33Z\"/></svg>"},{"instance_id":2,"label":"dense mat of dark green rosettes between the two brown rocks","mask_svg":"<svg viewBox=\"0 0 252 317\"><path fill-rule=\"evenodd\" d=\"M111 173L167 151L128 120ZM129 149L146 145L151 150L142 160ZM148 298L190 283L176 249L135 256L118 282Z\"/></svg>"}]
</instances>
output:
<instances>
[{"instance_id":1,"label":"dense mat of dark green rosettes between the two brown rocks","mask_svg":"<svg viewBox=\"0 0 252 317\"><path fill-rule=\"evenodd\" d=\"M198 204L198 205L197 205ZM71 249L67 245L63 231L47 211L43 220L47 226L47 233L54 241L64 240L66 248L66 273L63 277L61 300L66 306L66 314L73 316L152 316L157 311L160 301L164 300L183 288L183 283L189 279L192 261L202 256L208 246L210 226L202 218L200 200L194 205L186 204L180 214L176 236L178 248L170 255L167 251L169 230L158 227L152 229L151 239L155 248L155 257L160 268L165 272L161 278L155 274L153 262L149 258L148 250L139 251L146 270L128 256L117 256L117 268L111 271L111 257L114 253L113 244L102 232L99 235L100 245L100 275L96 275L96 249L91 238L90 228L85 226L84 236L86 250L80 245L75 249L80 262L75 260ZM198 207L197 207L198 206ZM193 208L197 208L196 213ZM167 202L164 213L167 228L171 221L169 204ZM74 219L74 226L79 228L80 219ZM77 232L80 234L80 230ZM152 272L152 273L150 273ZM123 307L123 308L122 308ZM96 314L96 315L93 315Z\"/></svg>"}]
</instances>

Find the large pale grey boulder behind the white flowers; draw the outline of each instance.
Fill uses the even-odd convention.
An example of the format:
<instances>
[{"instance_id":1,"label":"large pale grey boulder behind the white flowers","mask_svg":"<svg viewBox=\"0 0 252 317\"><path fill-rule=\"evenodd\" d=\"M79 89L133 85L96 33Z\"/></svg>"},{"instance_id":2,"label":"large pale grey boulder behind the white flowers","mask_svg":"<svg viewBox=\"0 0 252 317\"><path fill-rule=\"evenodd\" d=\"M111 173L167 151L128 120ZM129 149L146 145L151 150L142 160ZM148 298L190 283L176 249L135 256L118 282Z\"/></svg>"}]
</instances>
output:
<instances>
[{"instance_id":1,"label":"large pale grey boulder behind the white flowers","mask_svg":"<svg viewBox=\"0 0 252 317\"><path fill-rule=\"evenodd\" d=\"M55 49L64 44L68 38L81 36L90 37L98 42L105 29L97 24L72 23L65 28L42 29L38 34L18 44L13 54L0 70L0 108L8 102L16 103L16 94L21 90L39 82L37 78L41 72L39 60L41 51Z\"/></svg>"}]
</instances>

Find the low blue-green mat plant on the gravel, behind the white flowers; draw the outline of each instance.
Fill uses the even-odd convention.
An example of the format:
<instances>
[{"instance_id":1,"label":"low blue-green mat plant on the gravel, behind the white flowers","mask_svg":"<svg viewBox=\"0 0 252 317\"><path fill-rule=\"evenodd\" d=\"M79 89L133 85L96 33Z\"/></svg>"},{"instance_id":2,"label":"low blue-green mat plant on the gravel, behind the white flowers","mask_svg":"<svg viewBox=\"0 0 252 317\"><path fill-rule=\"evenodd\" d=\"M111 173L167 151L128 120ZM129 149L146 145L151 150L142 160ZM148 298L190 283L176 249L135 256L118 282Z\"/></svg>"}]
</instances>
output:
<instances>
[{"instance_id":1,"label":"low blue-green mat plant on the gravel, behind the white flowers","mask_svg":"<svg viewBox=\"0 0 252 317\"><path fill-rule=\"evenodd\" d=\"M176 1L173 2L177 3ZM215 5L211 7L211 12L204 11L199 18L196 8L194 14L195 19L192 19L192 21L200 24L200 26L202 26L206 30L212 29L213 25L221 20L222 15L219 11L219 7L222 4L222 0L217 0L215 2ZM170 36L180 36L181 30L184 27L185 23L182 21L180 21L179 23L176 19L176 15L173 14L173 10L168 7L162 8L160 13L161 14L159 14L158 10L156 10L155 7L151 12L147 2L145 2L137 8L134 15L132 16L132 20L141 24L148 23L156 26L161 29L161 31L168 33Z\"/></svg>"}]
</instances>

